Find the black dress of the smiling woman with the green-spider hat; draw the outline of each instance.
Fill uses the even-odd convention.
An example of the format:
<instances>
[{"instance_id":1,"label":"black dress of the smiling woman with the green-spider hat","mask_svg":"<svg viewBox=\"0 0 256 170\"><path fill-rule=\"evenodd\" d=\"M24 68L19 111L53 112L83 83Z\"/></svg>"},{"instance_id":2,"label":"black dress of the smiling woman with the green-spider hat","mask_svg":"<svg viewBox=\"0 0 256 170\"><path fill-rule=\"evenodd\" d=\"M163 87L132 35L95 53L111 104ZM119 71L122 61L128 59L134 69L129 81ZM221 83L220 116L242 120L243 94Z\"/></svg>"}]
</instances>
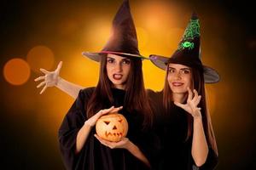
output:
<instances>
[{"instance_id":1,"label":"black dress of the smiling woman with the green-spider hat","mask_svg":"<svg viewBox=\"0 0 256 170\"><path fill-rule=\"evenodd\" d=\"M209 147L207 161L196 167L191 155L192 138L187 138L188 113L182 108L173 105L166 112L163 107L162 92L148 91L154 108L154 131L160 138L160 154L155 163L155 169L159 170L210 170L216 167L218 156Z\"/></svg>"}]
</instances>

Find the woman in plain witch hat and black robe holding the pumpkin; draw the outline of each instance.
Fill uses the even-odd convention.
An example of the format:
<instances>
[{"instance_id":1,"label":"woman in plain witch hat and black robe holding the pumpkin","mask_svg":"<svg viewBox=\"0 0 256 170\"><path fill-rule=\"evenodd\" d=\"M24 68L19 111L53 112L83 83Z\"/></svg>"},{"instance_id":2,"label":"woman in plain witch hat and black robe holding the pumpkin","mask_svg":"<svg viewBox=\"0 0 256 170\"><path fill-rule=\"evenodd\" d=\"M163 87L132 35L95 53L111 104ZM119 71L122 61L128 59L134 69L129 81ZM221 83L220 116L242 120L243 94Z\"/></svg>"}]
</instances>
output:
<instances>
[{"instance_id":1,"label":"woman in plain witch hat and black robe holding the pumpkin","mask_svg":"<svg viewBox=\"0 0 256 170\"><path fill-rule=\"evenodd\" d=\"M151 123L151 109L143 85L143 56L137 49L128 1L119 8L113 20L113 34L102 51L83 54L100 62L100 77L96 88L79 91L61 123L59 141L65 166L91 170L148 169L146 156L152 147L148 146L149 133L145 129ZM99 117L117 111L129 123L126 138L110 142L97 136L95 125Z\"/></svg>"}]
</instances>

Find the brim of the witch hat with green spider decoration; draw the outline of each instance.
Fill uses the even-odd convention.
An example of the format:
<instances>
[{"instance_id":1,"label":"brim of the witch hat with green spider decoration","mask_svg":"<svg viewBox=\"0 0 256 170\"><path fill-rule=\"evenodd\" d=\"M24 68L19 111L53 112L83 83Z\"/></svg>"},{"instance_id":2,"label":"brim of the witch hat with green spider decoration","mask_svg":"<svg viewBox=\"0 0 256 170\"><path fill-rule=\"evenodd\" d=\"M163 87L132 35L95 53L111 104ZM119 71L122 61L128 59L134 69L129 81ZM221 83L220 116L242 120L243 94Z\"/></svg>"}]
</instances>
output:
<instances>
[{"instance_id":1,"label":"brim of the witch hat with green spider decoration","mask_svg":"<svg viewBox=\"0 0 256 170\"><path fill-rule=\"evenodd\" d=\"M160 55L151 54L149 56L149 59L155 66L166 71L166 68L167 68L166 63L170 58L160 56ZM220 78L219 78L217 71L215 71L214 69L212 69L211 67L209 67L207 65L202 65L202 66L203 66L203 71L204 71L204 79L205 79L206 83L219 82Z\"/></svg>"}]
</instances>

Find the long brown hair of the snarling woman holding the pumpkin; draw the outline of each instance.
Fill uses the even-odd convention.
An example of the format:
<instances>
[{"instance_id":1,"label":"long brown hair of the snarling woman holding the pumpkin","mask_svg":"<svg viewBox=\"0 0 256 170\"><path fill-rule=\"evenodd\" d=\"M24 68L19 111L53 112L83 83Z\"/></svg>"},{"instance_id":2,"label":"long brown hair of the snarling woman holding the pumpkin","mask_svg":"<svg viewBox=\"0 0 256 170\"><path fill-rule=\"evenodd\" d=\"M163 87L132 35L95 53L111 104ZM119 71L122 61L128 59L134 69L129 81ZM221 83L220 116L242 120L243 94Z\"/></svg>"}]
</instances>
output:
<instances>
[{"instance_id":1,"label":"long brown hair of the snarling woman holding the pumpkin","mask_svg":"<svg viewBox=\"0 0 256 170\"><path fill-rule=\"evenodd\" d=\"M152 110L144 88L142 59L137 57L127 58L131 59L131 69L125 86L124 106L131 113L136 111L143 114L143 127L148 127L152 125ZM113 94L111 92L113 83L108 79L106 66L107 55L102 55L99 81L88 104L85 105L88 118L95 115L97 111L113 105Z\"/></svg>"}]
</instances>

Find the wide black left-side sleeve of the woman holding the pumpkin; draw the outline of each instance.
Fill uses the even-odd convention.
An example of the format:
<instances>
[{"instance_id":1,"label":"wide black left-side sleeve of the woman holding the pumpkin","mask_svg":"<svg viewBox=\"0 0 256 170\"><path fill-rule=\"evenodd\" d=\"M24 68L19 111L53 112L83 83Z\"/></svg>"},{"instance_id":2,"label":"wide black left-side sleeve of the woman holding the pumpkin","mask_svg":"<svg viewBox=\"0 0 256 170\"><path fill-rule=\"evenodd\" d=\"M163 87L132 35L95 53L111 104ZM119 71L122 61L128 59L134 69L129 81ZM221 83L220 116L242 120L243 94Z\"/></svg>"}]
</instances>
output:
<instances>
[{"instance_id":1,"label":"wide black left-side sleeve of the woman holding the pumpkin","mask_svg":"<svg viewBox=\"0 0 256 170\"><path fill-rule=\"evenodd\" d=\"M83 127L85 118L84 98L86 93L80 90L78 98L64 117L59 129L61 156L67 169L75 169L79 154L75 153L76 138L79 129Z\"/></svg>"}]
</instances>

